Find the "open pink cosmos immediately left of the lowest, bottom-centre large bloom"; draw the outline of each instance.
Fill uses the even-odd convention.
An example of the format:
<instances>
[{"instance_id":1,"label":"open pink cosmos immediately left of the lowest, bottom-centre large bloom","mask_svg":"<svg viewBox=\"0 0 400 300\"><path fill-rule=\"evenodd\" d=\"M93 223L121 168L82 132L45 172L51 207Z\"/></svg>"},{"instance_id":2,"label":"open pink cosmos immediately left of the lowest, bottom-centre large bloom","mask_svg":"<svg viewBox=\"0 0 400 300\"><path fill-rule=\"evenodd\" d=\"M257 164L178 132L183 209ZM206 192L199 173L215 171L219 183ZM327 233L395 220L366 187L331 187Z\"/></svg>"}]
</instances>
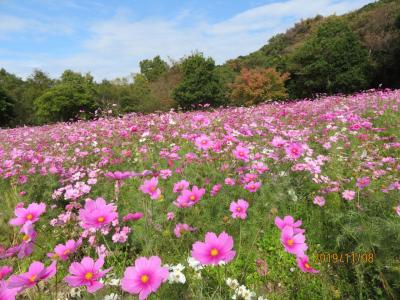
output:
<instances>
[{"instance_id":1,"label":"open pink cosmos immediately left of the lowest, bottom-centre large bloom","mask_svg":"<svg viewBox=\"0 0 400 300\"><path fill-rule=\"evenodd\" d=\"M103 287L98 280L111 270L111 268L101 270L103 265L103 258L94 261L91 257L86 256L80 263L73 262L69 266L71 275L66 276L64 280L72 287L86 286L89 293L94 293Z\"/></svg>"}]
</instances>

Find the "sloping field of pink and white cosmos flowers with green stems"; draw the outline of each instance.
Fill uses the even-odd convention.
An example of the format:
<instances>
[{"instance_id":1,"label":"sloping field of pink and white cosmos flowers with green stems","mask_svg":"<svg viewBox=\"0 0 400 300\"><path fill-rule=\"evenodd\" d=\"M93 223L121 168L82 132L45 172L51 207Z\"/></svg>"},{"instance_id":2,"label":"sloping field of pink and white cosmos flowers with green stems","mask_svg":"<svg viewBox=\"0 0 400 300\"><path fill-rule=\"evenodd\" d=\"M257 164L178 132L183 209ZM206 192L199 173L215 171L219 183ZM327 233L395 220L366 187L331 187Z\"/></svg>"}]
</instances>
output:
<instances>
[{"instance_id":1,"label":"sloping field of pink and white cosmos flowers with green stems","mask_svg":"<svg viewBox=\"0 0 400 300\"><path fill-rule=\"evenodd\" d=\"M0 300L398 299L399 104L0 130Z\"/></svg>"}]
</instances>

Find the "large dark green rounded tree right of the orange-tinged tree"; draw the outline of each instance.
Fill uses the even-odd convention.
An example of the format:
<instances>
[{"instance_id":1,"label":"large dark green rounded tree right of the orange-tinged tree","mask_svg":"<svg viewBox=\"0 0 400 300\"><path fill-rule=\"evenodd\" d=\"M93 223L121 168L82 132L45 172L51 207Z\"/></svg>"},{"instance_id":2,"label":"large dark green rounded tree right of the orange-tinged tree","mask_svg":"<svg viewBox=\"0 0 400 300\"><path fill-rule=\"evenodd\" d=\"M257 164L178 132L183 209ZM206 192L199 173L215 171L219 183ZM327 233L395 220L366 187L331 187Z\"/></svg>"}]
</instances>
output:
<instances>
[{"instance_id":1,"label":"large dark green rounded tree right of the orange-tinged tree","mask_svg":"<svg viewBox=\"0 0 400 300\"><path fill-rule=\"evenodd\" d=\"M290 58L292 96L350 93L368 87L371 65L359 37L339 18L322 23Z\"/></svg>"}]
</instances>

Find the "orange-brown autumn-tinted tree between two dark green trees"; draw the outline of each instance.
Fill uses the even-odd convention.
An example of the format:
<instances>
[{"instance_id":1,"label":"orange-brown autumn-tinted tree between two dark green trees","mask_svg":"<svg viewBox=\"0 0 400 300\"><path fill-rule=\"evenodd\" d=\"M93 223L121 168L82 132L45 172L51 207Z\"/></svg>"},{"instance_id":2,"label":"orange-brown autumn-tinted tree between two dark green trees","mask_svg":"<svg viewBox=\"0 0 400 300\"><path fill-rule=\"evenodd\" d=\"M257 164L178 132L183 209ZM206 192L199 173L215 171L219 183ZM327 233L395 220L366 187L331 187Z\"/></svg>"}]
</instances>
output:
<instances>
[{"instance_id":1,"label":"orange-brown autumn-tinted tree between two dark green trees","mask_svg":"<svg viewBox=\"0 0 400 300\"><path fill-rule=\"evenodd\" d=\"M288 73L279 73L274 68L243 68L231 85L231 102L234 105L254 105L270 100L281 100L288 96L285 81Z\"/></svg>"}]
</instances>

